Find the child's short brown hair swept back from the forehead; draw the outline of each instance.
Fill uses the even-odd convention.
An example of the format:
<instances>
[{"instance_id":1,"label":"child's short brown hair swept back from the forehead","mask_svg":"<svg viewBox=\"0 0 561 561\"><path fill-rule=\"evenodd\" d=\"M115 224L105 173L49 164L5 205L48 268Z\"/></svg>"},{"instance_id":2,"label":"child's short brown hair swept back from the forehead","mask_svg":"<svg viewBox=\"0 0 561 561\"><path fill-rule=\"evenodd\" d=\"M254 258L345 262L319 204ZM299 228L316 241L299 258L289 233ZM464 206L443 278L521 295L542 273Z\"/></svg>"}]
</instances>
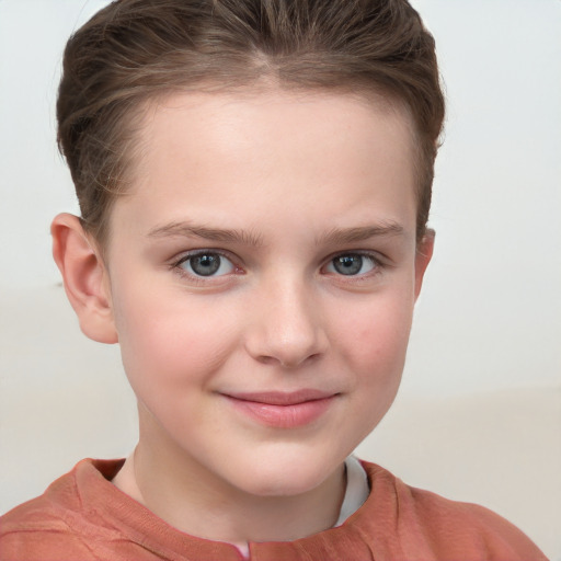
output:
<instances>
[{"instance_id":1,"label":"child's short brown hair swept back from the forehead","mask_svg":"<svg viewBox=\"0 0 561 561\"><path fill-rule=\"evenodd\" d=\"M407 0L115 0L70 37L58 144L82 222L100 243L127 186L135 112L203 84L381 94L417 145L417 238L426 229L444 96L432 35Z\"/></svg>"}]
</instances>

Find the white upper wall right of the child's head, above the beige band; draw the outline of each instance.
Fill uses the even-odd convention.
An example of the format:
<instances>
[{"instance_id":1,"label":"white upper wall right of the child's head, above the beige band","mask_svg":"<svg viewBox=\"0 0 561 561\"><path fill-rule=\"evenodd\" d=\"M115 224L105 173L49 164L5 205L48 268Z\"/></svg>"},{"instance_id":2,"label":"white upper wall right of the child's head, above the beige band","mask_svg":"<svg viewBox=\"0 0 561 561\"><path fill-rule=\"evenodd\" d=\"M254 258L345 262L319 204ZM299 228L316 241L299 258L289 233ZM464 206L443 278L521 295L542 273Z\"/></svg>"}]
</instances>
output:
<instances>
[{"instance_id":1,"label":"white upper wall right of the child's head, above the beige band","mask_svg":"<svg viewBox=\"0 0 561 561\"><path fill-rule=\"evenodd\" d=\"M419 0L449 114L407 389L561 382L561 2Z\"/></svg>"}]
</instances>

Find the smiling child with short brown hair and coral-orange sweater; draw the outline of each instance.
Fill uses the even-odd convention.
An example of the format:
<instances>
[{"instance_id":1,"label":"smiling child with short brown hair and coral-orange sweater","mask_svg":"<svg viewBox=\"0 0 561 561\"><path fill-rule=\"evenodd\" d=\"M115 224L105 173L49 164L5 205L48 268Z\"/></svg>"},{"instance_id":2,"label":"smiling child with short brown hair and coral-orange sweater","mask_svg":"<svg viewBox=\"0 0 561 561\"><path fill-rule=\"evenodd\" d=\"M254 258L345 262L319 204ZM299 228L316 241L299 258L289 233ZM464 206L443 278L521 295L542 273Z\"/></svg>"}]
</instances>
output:
<instances>
[{"instance_id":1,"label":"smiling child with short brown hair and coral-orange sweater","mask_svg":"<svg viewBox=\"0 0 561 561\"><path fill-rule=\"evenodd\" d=\"M140 438L7 514L1 559L545 559L351 456L399 386L443 118L404 0L118 0L79 30L54 255Z\"/></svg>"}]
</instances>

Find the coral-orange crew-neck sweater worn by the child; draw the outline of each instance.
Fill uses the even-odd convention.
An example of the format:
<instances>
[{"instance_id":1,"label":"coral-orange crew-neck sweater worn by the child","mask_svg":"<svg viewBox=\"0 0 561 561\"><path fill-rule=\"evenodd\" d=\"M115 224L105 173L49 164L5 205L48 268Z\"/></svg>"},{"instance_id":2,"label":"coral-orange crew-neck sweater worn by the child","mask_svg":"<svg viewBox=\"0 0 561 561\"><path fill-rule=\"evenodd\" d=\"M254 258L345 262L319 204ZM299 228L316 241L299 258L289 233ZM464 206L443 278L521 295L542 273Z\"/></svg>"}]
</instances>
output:
<instances>
[{"instance_id":1,"label":"coral-orange crew-neck sweater worn by the child","mask_svg":"<svg viewBox=\"0 0 561 561\"><path fill-rule=\"evenodd\" d=\"M121 492L124 460L82 460L0 518L2 561L242 561L229 543L181 533ZM478 505L405 485L363 462L370 494L339 527L249 546L252 561L542 561L516 527Z\"/></svg>"}]
</instances>

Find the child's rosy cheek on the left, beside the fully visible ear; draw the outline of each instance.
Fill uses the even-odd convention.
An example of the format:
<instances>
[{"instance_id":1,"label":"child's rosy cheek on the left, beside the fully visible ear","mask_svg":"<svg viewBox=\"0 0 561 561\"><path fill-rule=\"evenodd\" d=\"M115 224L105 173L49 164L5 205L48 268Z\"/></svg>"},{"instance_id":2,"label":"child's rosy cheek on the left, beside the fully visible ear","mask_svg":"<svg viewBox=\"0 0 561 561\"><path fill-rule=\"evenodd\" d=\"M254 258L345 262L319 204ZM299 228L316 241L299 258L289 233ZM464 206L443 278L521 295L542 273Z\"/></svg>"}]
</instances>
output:
<instances>
[{"instance_id":1,"label":"child's rosy cheek on the left, beside the fully visible ear","mask_svg":"<svg viewBox=\"0 0 561 561\"><path fill-rule=\"evenodd\" d=\"M131 383L158 391L201 381L236 344L232 318L220 306L178 289L138 289L130 282L118 296L115 323ZM162 386L167 381L168 386Z\"/></svg>"}]
</instances>

